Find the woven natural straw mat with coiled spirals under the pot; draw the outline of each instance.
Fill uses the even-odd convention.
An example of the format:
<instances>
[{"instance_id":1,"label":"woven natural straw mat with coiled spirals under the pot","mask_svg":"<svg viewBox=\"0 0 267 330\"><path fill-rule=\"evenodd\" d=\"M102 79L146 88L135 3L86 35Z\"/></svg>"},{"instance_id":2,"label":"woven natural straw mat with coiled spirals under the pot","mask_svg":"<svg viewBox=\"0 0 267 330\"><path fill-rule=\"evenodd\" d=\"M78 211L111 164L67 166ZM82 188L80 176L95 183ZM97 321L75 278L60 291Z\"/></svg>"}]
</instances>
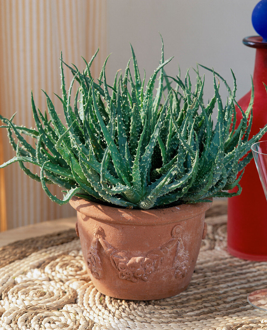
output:
<instances>
[{"instance_id":1,"label":"woven natural straw mat with coiled spirals under the pot","mask_svg":"<svg viewBox=\"0 0 267 330\"><path fill-rule=\"evenodd\" d=\"M225 206L207 212L208 234L188 289L162 300L99 293L74 230L0 248L0 329L267 329L267 312L247 303L248 293L267 287L267 262L226 252Z\"/></svg>"}]
</instances>

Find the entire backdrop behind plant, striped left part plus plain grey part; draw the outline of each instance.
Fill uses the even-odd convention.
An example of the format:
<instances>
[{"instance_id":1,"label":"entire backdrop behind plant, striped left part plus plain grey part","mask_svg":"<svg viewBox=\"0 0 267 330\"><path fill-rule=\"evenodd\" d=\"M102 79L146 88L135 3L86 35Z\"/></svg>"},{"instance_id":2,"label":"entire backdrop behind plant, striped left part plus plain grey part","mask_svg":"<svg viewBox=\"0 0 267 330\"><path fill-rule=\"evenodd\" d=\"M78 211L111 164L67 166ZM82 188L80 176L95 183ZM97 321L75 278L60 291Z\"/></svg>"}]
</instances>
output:
<instances>
[{"instance_id":1,"label":"entire backdrop behind plant, striped left part plus plain grey part","mask_svg":"<svg viewBox=\"0 0 267 330\"><path fill-rule=\"evenodd\" d=\"M110 82L117 69L125 69L132 43L138 64L151 75L161 56L161 32L165 57L175 56L167 72L182 75L199 62L214 67L231 83L236 74L238 98L250 89L255 51L243 46L245 36L255 34L252 9L258 0L0 0L0 112L15 121L33 125L30 91L45 109L40 88L60 93L59 60L83 67L80 55L90 58L100 46L94 70L97 75L108 60ZM67 80L70 76L67 75ZM213 94L207 82L207 97ZM226 93L225 93L226 94ZM53 97L53 96L52 96ZM56 100L53 97L53 100ZM1 138L1 137L0 137ZM5 132L2 132L7 146ZM13 157L5 147L4 159ZM0 152L0 157L1 157ZM5 177L8 227L74 215L59 207L43 192L40 183L27 178L17 164L0 173ZM1 188L0 188L1 189ZM59 189L52 189L59 194ZM0 208L3 198L0 195Z\"/></svg>"}]
</instances>

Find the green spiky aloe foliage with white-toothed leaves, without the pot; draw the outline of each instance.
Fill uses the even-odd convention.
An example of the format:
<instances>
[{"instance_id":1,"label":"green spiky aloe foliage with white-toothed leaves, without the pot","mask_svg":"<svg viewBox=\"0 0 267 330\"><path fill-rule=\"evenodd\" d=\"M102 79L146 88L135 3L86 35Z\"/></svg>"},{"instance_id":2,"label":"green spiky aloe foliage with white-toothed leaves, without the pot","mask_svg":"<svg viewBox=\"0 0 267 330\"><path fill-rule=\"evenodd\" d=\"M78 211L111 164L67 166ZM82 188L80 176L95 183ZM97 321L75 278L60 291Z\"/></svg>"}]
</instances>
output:
<instances>
[{"instance_id":1,"label":"green spiky aloe foliage with white-toothed leaves, without the pot","mask_svg":"<svg viewBox=\"0 0 267 330\"><path fill-rule=\"evenodd\" d=\"M239 194L242 174L238 173L252 159L251 153L244 156L267 131L265 126L249 140L253 88L246 112L237 105L243 117L236 125L234 75L231 91L222 77L213 72L214 96L205 105L204 77L200 77L198 70L193 91L189 72L184 82L179 75L168 77L164 67L172 58L164 60L162 46L161 63L144 88L145 78L141 81L131 49L134 76L129 61L123 76L117 72L113 86L106 82L107 60L99 79L93 81L90 66L97 52L89 63L85 61L82 73L64 63L61 55L62 98L58 97L66 124L59 119L46 92L50 118L36 108L32 96L37 129L17 126L13 117L9 120L1 116L5 124L2 127L7 128L16 155L0 167L18 162L28 176L41 181L48 197L58 204L65 204L77 195L120 207L149 209ZM68 92L63 64L74 75ZM159 86L154 96L158 75ZM216 76L229 92L224 106ZM79 88L72 103L75 80ZM171 84L176 86L172 88ZM218 116L213 129L214 111ZM23 135L36 141L35 148ZM39 166L40 176L24 163ZM67 190L62 200L50 193L48 183ZM236 193L227 192L236 186Z\"/></svg>"}]
</instances>

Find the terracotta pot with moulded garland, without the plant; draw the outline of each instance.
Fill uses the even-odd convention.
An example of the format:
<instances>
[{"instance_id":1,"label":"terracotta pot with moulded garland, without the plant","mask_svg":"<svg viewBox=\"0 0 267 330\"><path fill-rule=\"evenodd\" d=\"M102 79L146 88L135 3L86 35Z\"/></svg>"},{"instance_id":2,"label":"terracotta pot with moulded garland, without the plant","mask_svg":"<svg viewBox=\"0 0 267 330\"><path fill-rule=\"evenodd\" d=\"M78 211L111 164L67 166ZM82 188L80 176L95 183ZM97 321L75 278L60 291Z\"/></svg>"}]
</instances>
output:
<instances>
[{"instance_id":1,"label":"terracotta pot with moulded garland, without the plant","mask_svg":"<svg viewBox=\"0 0 267 330\"><path fill-rule=\"evenodd\" d=\"M153 300L187 288L211 203L128 210L73 197L70 204L91 280L101 293Z\"/></svg>"}]
</instances>

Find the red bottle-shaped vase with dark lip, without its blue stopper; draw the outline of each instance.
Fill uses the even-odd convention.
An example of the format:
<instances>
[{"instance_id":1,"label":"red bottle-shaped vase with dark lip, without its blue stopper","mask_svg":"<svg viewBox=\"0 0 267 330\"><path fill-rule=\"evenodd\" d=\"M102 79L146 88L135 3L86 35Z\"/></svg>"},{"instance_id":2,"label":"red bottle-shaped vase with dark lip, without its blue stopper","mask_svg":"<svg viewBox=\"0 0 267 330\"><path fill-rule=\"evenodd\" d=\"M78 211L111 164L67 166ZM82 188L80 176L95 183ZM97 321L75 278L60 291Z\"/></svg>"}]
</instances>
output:
<instances>
[{"instance_id":1,"label":"red bottle-shaped vase with dark lip, without its blue stopper","mask_svg":"<svg viewBox=\"0 0 267 330\"><path fill-rule=\"evenodd\" d=\"M256 48L252 138L267 123L267 93L263 84L267 84L267 43L262 42L262 37L248 37L243 43ZM250 98L251 91L238 101L244 111ZM237 109L237 122L241 116ZM267 133L261 139L264 140L267 140ZM240 185L241 195L228 200L228 251L239 258L267 261L267 202L253 159L247 165Z\"/></svg>"}]
</instances>

